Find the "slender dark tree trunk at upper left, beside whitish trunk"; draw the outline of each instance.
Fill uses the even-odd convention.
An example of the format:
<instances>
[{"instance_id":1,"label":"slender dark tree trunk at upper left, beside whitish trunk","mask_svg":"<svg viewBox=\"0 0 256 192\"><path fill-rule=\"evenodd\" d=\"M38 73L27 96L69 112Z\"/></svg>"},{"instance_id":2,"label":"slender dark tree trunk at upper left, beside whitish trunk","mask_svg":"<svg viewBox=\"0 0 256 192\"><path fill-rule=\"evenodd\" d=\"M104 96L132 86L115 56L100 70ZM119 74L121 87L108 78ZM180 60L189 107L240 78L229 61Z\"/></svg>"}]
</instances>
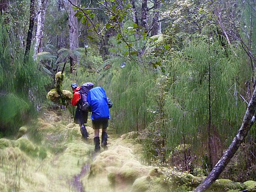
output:
<instances>
[{"instance_id":1,"label":"slender dark tree trunk at upper left, beside whitish trunk","mask_svg":"<svg viewBox=\"0 0 256 192\"><path fill-rule=\"evenodd\" d=\"M25 60L28 57L31 41L32 41L32 34L33 34L34 20L35 20L34 3L35 3L35 0L30 1L30 16L29 16L29 27L28 27L28 33L27 33L27 44L26 44L26 50L25 50Z\"/></svg>"}]
</instances>

